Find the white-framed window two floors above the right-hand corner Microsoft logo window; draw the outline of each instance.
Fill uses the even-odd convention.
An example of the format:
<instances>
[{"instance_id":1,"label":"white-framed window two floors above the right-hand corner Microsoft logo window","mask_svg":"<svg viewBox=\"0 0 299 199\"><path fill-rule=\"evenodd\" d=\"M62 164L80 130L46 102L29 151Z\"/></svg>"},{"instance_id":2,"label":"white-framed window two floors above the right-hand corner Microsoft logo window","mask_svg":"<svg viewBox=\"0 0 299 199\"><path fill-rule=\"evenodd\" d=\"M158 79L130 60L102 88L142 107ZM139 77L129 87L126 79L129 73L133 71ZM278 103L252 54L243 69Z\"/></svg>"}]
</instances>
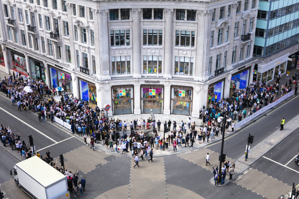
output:
<instances>
[{"instance_id":1,"label":"white-framed window two floors above the right-hand corner Microsoft logo window","mask_svg":"<svg viewBox=\"0 0 299 199\"><path fill-rule=\"evenodd\" d=\"M175 46L194 47L195 31L176 30L175 31Z\"/></svg>"}]
</instances>

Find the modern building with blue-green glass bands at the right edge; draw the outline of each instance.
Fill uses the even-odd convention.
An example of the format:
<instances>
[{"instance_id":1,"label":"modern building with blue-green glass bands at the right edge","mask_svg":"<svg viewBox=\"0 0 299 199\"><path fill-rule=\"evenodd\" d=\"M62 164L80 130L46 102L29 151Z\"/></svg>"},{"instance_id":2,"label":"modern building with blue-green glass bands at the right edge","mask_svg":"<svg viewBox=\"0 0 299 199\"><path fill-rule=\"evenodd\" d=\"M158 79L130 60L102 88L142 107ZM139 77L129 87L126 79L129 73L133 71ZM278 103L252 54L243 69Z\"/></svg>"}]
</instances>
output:
<instances>
[{"instance_id":1,"label":"modern building with blue-green glass bands at the right edge","mask_svg":"<svg viewBox=\"0 0 299 199\"><path fill-rule=\"evenodd\" d=\"M288 69L299 68L299 1L259 1L254 56L257 80L272 81Z\"/></svg>"}]
</instances>

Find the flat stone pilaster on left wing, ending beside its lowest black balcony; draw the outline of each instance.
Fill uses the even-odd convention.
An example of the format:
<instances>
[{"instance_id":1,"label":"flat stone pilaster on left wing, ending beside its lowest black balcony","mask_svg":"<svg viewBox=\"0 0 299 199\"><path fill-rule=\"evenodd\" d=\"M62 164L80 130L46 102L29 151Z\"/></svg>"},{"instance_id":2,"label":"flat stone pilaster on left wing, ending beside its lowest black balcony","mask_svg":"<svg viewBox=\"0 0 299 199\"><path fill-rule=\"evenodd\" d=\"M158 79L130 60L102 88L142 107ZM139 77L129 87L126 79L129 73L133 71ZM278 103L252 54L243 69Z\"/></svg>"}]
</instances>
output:
<instances>
[{"instance_id":1,"label":"flat stone pilaster on left wing, ending beside its lowest black balcony","mask_svg":"<svg viewBox=\"0 0 299 199\"><path fill-rule=\"evenodd\" d=\"M69 24L69 50L71 53L71 65L76 67L76 54L75 54L75 48L74 48L74 25L73 25L73 18L72 18L72 4L71 3L65 3L65 5L68 8L68 24ZM62 26L63 27L63 26ZM79 33L78 33L79 34ZM67 57L65 58L65 62L67 62ZM73 61L72 61L73 60Z\"/></svg>"}]
</instances>

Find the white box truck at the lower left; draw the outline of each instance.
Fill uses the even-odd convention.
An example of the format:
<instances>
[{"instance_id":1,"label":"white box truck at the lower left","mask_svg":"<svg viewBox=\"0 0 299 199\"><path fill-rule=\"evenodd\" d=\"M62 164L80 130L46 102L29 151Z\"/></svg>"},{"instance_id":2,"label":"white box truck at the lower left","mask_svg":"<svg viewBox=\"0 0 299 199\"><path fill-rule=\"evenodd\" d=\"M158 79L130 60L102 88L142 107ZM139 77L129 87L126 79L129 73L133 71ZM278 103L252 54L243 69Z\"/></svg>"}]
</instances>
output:
<instances>
[{"instance_id":1,"label":"white box truck at the lower left","mask_svg":"<svg viewBox=\"0 0 299 199\"><path fill-rule=\"evenodd\" d=\"M67 178L37 156L17 163L10 174L15 183L35 199L68 199Z\"/></svg>"}]
</instances>

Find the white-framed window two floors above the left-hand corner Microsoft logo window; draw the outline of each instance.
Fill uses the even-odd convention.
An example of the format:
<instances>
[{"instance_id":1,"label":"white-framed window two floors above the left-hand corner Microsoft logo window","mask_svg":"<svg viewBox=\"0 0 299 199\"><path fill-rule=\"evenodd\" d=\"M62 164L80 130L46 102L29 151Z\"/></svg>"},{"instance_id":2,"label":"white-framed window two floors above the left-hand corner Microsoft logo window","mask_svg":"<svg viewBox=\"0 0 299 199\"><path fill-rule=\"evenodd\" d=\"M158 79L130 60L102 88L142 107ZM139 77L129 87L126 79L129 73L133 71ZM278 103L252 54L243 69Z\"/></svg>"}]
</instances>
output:
<instances>
[{"instance_id":1,"label":"white-framed window two floors above the left-hand corner Microsoft logo window","mask_svg":"<svg viewBox=\"0 0 299 199\"><path fill-rule=\"evenodd\" d=\"M111 46L129 46L130 30L110 30Z\"/></svg>"}]
</instances>

